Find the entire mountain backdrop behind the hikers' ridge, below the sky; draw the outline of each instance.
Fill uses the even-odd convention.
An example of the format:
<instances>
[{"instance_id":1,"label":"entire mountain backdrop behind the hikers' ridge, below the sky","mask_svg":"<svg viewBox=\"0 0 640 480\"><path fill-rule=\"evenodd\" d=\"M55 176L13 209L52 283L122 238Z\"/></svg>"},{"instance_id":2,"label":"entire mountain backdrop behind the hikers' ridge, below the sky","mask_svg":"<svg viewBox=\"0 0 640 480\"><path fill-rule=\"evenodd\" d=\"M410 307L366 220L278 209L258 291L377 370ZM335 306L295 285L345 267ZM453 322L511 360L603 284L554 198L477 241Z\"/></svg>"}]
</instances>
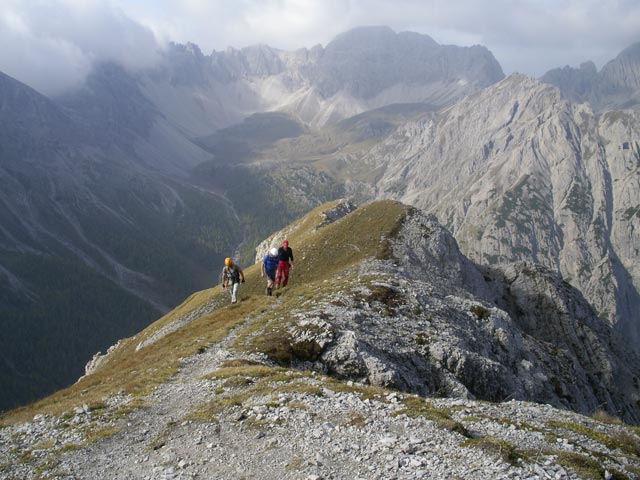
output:
<instances>
[{"instance_id":1,"label":"entire mountain backdrop behind the hikers' ridge, below the sky","mask_svg":"<svg viewBox=\"0 0 640 480\"><path fill-rule=\"evenodd\" d=\"M57 98L0 74L0 408L345 195L434 211L476 261L557 269L638 338L637 115L563 100L633 105L630 52L613 94L568 75L564 97L484 47L386 27L295 52L174 44Z\"/></svg>"}]
</instances>

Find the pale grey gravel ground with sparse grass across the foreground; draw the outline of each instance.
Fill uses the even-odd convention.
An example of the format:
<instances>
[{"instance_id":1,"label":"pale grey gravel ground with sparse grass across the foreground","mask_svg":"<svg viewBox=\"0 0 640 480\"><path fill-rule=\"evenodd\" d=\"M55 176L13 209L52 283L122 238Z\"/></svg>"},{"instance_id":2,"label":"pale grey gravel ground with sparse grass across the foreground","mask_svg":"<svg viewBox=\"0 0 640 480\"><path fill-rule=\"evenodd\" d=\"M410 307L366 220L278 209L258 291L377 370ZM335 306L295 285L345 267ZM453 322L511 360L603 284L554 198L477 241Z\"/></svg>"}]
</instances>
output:
<instances>
[{"instance_id":1,"label":"pale grey gravel ground with sparse grass across the foreground","mask_svg":"<svg viewBox=\"0 0 640 480\"><path fill-rule=\"evenodd\" d=\"M596 423L549 406L432 401L435 408L451 412L451 419L464 425L468 435L502 439L508 442L504 445L530 453L519 461L508 459L500 446L469 445L467 437L443 428L441 422L398 414L408 398L401 393L368 397L353 384L337 391L319 375L296 372L290 373L289 381L274 382L269 390L215 416L190 416L206 402L253 386L249 380L229 385L222 378L203 378L236 358L228 351L234 338L235 331L184 359L176 376L126 415L117 412L132 399L116 396L105 411L78 407L70 419L38 415L33 422L2 429L1 478L588 478L562 467L557 456L546 453L551 448L583 454L602 451L617 470L628 462L620 452L587 437L546 432L551 421ZM294 383L297 387L291 388ZM86 432L97 427L111 434L84 443Z\"/></svg>"}]
</instances>

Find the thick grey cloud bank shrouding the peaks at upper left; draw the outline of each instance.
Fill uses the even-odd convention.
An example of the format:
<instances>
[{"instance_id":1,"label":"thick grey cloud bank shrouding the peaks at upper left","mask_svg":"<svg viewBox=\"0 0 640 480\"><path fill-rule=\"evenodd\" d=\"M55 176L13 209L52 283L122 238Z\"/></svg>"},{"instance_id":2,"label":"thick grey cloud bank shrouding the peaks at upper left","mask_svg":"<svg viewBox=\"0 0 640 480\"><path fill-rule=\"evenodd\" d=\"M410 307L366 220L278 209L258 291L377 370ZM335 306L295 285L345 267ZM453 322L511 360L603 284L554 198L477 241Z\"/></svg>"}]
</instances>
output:
<instances>
[{"instance_id":1,"label":"thick grey cloud bank shrouding the peaks at upper left","mask_svg":"<svg viewBox=\"0 0 640 480\"><path fill-rule=\"evenodd\" d=\"M159 49L122 10L87 0L0 0L0 45L0 70L47 95L80 84L95 62L149 67Z\"/></svg>"}]
</instances>

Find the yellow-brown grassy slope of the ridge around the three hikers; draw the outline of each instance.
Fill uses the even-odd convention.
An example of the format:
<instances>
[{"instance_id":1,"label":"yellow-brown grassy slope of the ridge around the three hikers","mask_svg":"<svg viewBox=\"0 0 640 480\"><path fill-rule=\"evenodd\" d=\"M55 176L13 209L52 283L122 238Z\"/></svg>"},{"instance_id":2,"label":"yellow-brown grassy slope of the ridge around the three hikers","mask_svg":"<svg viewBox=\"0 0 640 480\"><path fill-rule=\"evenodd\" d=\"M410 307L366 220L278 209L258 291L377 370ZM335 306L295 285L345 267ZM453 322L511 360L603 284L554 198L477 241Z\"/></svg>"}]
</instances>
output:
<instances>
[{"instance_id":1,"label":"yellow-brown grassy slope of the ridge around the three hikers","mask_svg":"<svg viewBox=\"0 0 640 480\"><path fill-rule=\"evenodd\" d=\"M318 207L298 220L289 235L296 265L291 284L283 292L285 301L295 301L310 285L331 280L363 258L388 255L386 239L396 231L408 208L391 201L376 202L315 230L322 220L321 212L330 206ZM59 414L82 403L100 403L104 396L120 390L144 394L175 373L180 358L220 341L230 328L265 311L273 299L263 294L264 280L260 278L259 265L245 268L245 274L247 282L242 286L238 304L218 308L136 352L140 341L167 323L196 309L212 296L226 295L218 286L192 294L156 323L123 340L96 373L29 406L7 412L1 423L26 420L38 412Z\"/></svg>"}]
</instances>

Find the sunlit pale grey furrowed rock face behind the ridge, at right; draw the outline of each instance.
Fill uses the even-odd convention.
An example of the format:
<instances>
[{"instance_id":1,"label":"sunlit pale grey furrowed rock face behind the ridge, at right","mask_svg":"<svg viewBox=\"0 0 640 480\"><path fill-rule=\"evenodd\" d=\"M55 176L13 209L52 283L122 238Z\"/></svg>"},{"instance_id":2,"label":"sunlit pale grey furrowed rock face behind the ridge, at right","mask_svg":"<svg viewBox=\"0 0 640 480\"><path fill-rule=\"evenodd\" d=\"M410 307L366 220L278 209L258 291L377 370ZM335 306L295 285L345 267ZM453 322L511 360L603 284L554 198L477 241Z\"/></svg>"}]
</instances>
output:
<instances>
[{"instance_id":1,"label":"sunlit pale grey furrowed rock face behind the ridge, at right","mask_svg":"<svg viewBox=\"0 0 640 480\"><path fill-rule=\"evenodd\" d=\"M474 261L534 261L640 339L640 114L514 75L368 153L378 196L429 209Z\"/></svg>"}]
</instances>

